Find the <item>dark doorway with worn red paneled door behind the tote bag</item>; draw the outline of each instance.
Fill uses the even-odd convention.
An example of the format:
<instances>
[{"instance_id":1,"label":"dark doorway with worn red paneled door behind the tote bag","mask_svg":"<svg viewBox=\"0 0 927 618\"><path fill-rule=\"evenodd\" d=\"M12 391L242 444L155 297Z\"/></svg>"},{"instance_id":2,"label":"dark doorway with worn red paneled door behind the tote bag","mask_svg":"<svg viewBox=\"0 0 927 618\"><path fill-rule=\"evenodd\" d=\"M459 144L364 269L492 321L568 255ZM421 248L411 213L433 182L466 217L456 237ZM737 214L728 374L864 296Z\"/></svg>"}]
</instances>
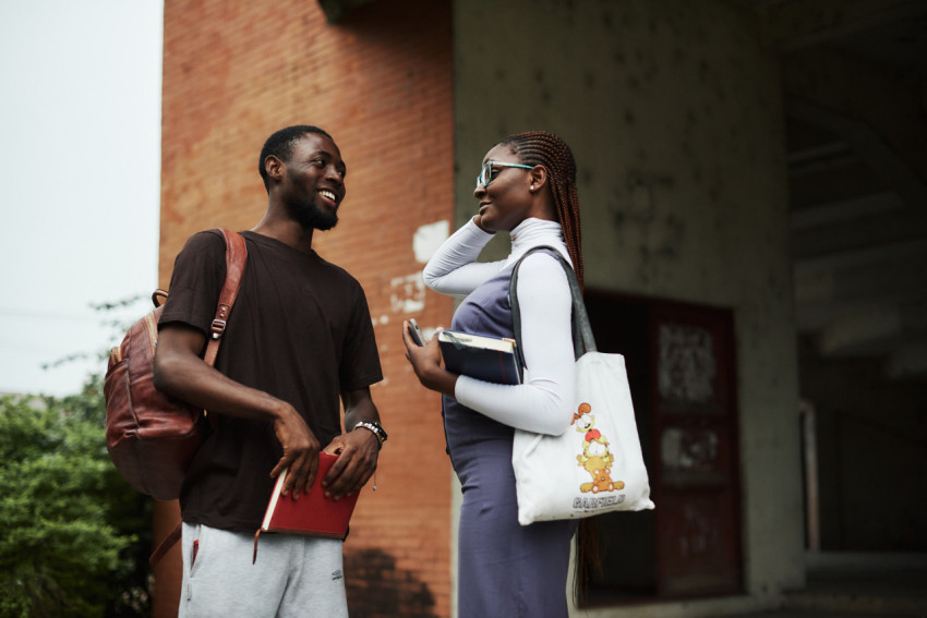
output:
<instances>
[{"instance_id":1,"label":"dark doorway with worn red paneled door behind the tote bag","mask_svg":"<svg viewBox=\"0 0 927 618\"><path fill-rule=\"evenodd\" d=\"M733 314L587 291L602 352L625 356L653 511L594 519L589 605L739 592Z\"/></svg>"}]
</instances>

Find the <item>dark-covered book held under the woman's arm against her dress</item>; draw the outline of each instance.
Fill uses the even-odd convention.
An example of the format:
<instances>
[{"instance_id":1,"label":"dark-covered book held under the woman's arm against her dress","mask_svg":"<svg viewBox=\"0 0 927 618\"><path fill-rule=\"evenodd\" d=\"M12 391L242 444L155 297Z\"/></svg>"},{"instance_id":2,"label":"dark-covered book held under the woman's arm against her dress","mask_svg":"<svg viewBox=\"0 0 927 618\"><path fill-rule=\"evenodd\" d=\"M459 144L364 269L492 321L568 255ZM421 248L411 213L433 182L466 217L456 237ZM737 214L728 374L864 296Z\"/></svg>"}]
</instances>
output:
<instances>
[{"instance_id":1,"label":"dark-covered book held under the woman's arm against her dress","mask_svg":"<svg viewBox=\"0 0 927 618\"><path fill-rule=\"evenodd\" d=\"M521 384L521 355L515 339L442 330L437 342L452 373L496 384Z\"/></svg>"}]
</instances>

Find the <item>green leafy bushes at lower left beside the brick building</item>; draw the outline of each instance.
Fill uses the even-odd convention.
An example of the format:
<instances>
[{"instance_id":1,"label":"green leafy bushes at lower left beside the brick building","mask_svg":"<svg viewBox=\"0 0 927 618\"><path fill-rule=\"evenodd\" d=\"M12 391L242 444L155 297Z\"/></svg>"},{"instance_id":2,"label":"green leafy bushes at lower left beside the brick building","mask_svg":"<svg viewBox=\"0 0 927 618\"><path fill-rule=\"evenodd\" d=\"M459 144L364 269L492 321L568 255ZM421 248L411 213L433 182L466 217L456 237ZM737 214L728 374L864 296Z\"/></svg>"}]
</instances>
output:
<instances>
[{"instance_id":1,"label":"green leafy bushes at lower left beside the brick building","mask_svg":"<svg viewBox=\"0 0 927 618\"><path fill-rule=\"evenodd\" d=\"M0 398L0 617L147 610L151 507L109 460L101 390Z\"/></svg>"}]
</instances>

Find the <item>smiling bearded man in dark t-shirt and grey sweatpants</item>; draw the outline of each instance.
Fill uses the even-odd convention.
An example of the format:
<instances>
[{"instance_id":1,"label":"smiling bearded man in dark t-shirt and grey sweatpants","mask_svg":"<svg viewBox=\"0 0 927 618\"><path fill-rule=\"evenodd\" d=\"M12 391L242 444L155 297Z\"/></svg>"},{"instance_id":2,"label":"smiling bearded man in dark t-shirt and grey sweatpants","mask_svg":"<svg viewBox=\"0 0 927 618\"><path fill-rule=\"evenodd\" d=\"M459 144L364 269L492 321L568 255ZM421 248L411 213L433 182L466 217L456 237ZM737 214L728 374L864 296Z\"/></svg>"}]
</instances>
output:
<instances>
[{"instance_id":1,"label":"smiling bearded man in dark t-shirt and grey sweatpants","mask_svg":"<svg viewBox=\"0 0 927 618\"><path fill-rule=\"evenodd\" d=\"M338 499L372 476L386 438L370 395L383 376L363 290L312 250L315 230L338 220L346 168L330 135L300 125L267 140L260 171L267 211L242 232L248 262L216 368L201 360L226 270L215 231L178 255L159 323L155 385L207 410L212 426L180 496L179 615L347 616L340 540L264 535L252 565L285 468L284 493L296 496L320 450L340 452L323 480Z\"/></svg>"}]
</instances>

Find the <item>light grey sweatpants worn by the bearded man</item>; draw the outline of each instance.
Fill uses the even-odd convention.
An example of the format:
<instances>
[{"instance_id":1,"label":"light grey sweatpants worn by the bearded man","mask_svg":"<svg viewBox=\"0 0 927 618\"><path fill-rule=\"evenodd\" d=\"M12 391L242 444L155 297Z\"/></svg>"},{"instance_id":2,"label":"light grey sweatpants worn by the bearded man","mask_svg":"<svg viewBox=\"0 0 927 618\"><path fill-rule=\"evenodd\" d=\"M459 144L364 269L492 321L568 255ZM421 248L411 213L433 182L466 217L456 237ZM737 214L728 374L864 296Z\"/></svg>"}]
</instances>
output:
<instances>
[{"instance_id":1,"label":"light grey sweatpants worn by the bearded man","mask_svg":"<svg viewBox=\"0 0 927 618\"><path fill-rule=\"evenodd\" d=\"M253 534L184 523L178 617L347 618L341 545L264 533L252 565Z\"/></svg>"}]
</instances>

